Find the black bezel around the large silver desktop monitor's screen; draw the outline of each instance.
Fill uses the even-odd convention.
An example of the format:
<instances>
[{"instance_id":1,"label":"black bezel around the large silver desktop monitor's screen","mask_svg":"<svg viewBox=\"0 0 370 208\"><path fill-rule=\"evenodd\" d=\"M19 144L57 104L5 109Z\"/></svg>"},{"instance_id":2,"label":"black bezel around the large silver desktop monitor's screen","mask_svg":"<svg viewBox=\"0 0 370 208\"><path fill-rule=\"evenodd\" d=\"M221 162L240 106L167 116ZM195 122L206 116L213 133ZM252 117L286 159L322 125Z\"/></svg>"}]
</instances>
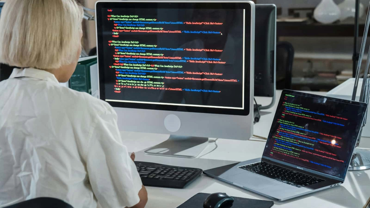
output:
<instances>
[{"instance_id":1,"label":"black bezel around the large silver desktop monitor's screen","mask_svg":"<svg viewBox=\"0 0 370 208\"><path fill-rule=\"evenodd\" d=\"M208 113L208 114L226 114L226 115L249 115L250 112L250 99L253 97L253 91L251 92L250 87L253 87L253 82L250 81L250 77L253 76L254 64L254 47L253 43L253 30L251 29L254 23L254 13L252 12L252 3L250 1L97 1L95 4L96 14L96 33L97 33L97 55L98 55L98 71L99 71L99 92L100 99L105 101L105 85L104 85L104 73L100 68L103 66L103 51L99 50L102 48L102 17L101 9L109 7L122 7L127 8L128 4L135 4L135 8L138 8L137 4L141 4L140 8L186 8L190 3L204 3L206 8L212 7L215 4L233 4L238 6L235 8L246 9L245 16L245 33L250 34L250 40L245 39L245 89L244 89L244 109L226 109L226 108L211 108L211 107L184 107L180 105L163 105L163 104L143 104L143 103L124 103L124 102L111 102L108 101L113 107L119 108L137 108L146 110L163 110L163 111L182 111L191 113ZM227 5L226 5L227 6ZM241 7L242 6L242 7ZM247 21L248 20L248 21ZM99 32L100 31L100 32ZM250 50L248 50L250 48ZM100 55L100 56L99 56Z\"/></svg>"}]
</instances>

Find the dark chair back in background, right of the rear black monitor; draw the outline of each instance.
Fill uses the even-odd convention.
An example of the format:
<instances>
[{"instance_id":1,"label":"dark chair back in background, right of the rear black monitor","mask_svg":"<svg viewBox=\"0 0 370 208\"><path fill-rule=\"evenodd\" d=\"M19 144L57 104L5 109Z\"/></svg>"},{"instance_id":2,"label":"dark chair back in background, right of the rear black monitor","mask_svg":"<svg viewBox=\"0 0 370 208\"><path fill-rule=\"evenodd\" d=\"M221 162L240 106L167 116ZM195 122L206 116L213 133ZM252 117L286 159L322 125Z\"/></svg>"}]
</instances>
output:
<instances>
[{"instance_id":1,"label":"dark chair back in background, right of the rear black monitor","mask_svg":"<svg viewBox=\"0 0 370 208\"><path fill-rule=\"evenodd\" d=\"M292 89L294 48L286 41L276 44L276 89Z\"/></svg>"}]
</instances>

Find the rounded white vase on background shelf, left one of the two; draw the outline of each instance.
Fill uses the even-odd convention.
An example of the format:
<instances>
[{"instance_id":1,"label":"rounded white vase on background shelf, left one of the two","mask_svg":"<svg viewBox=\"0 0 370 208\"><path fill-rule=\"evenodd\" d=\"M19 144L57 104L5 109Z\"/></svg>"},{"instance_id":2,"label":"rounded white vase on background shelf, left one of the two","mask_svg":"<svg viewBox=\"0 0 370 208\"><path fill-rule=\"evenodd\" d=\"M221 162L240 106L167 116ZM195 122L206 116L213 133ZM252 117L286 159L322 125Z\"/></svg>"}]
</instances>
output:
<instances>
[{"instance_id":1,"label":"rounded white vase on background shelf, left one of the two","mask_svg":"<svg viewBox=\"0 0 370 208\"><path fill-rule=\"evenodd\" d=\"M340 9L333 0L322 0L313 12L313 17L320 23L330 24L340 18Z\"/></svg>"}]
</instances>

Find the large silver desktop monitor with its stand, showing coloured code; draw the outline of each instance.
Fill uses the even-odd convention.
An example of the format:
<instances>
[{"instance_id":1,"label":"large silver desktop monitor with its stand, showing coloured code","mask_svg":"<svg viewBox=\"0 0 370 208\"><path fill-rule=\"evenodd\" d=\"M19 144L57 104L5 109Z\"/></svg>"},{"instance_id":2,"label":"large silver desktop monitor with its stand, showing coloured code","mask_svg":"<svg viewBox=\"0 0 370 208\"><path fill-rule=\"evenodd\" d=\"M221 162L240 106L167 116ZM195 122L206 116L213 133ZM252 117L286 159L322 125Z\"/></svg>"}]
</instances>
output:
<instances>
[{"instance_id":1,"label":"large silver desktop monitor with its stand, showing coloured code","mask_svg":"<svg viewBox=\"0 0 370 208\"><path fill-rule=\"evenodd\" d=\"M251 137L252 1L98 1L95 11L101 99L121 130L171 135L146 153L196 157L208 137Z\"/></svg>"}]
</instances>

